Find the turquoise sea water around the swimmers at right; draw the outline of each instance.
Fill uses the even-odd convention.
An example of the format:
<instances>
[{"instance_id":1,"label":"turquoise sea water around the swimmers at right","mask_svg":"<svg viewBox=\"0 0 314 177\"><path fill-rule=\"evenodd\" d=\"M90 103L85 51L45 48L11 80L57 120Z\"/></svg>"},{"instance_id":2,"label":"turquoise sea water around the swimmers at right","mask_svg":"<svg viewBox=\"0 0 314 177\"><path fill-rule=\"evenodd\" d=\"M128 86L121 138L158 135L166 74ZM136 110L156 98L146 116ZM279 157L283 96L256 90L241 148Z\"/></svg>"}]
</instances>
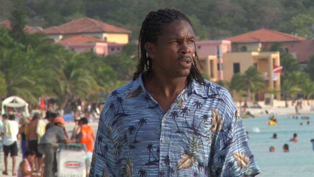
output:
<instances>
[{"instance_id":1,"label":"turquoise sea water around the swimmers at right","mask_svg":"<svg viewBox=\"0 0 314 177\"><path fill-rule=\"evenodd\" d=\"M302 116L310 117L310 125ZM276 116L278 125L269 126L268 116L243 118L246 131L249 132L249 145L261 169L258 177L314 177L314 151L311 139L314 139L314 114ZM303 125L300 125L300 123ZM259 130L259 132L258 132ZM273 134L277 139L272 139ZM298 142L290 142L293 134L298 134ZM284 152L287 143L290 152ZM275 152L269 152L274 146Z\"/></svg>"}]
</instances>

